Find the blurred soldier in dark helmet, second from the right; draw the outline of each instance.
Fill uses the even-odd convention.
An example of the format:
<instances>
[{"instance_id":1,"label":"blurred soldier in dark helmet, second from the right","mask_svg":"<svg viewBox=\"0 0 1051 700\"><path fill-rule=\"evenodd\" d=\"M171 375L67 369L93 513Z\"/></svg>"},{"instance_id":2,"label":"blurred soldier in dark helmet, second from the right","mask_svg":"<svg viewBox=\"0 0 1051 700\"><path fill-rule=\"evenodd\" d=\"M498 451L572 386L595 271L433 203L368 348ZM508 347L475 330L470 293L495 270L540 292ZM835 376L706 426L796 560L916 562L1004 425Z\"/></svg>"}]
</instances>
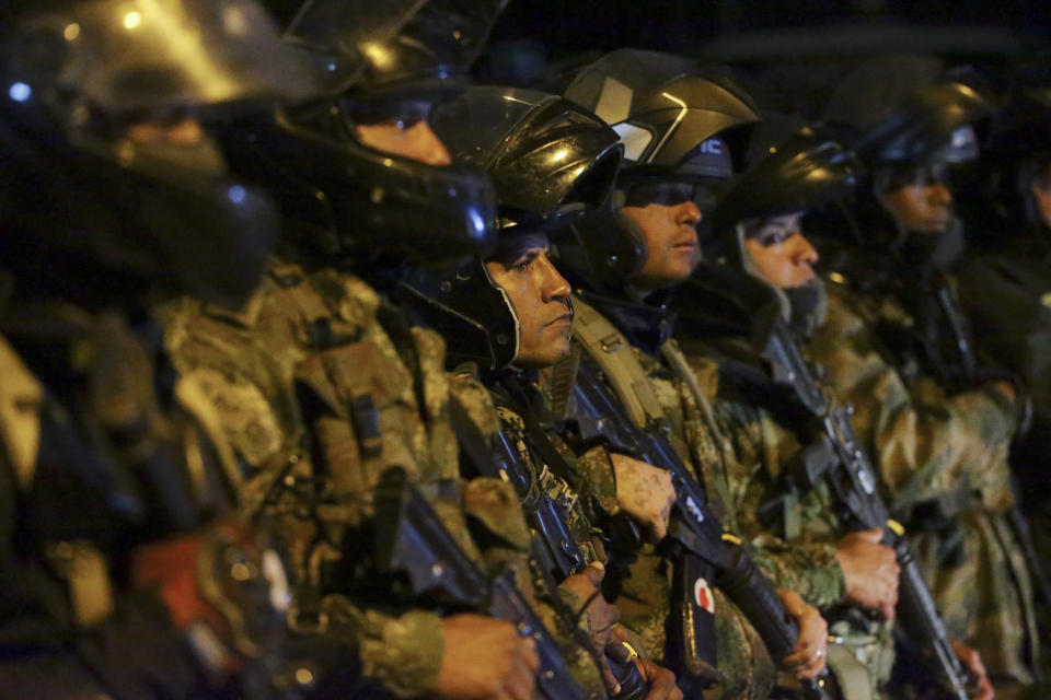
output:
<instances>
[{"instance_id":1,"label":"blurred soldier in dark helmet, second from the right","mask_svg":"<svg viewBox=\"0 0 1051 700\"><path fill-rule=\"evenodd\" d=\"M873 61L838 89L828 116L853 126L871 173L852 210L859 241L822 243L834 271L810 352L855 407L950 637L978 649L994 680L1028 684L1038 663L1029 574L1003 516L1020 401L978 365L943 271L957 228L948 167L975 155L971 125L989 109L971 84L920 58Z\"/></svg>"}]
</instances>

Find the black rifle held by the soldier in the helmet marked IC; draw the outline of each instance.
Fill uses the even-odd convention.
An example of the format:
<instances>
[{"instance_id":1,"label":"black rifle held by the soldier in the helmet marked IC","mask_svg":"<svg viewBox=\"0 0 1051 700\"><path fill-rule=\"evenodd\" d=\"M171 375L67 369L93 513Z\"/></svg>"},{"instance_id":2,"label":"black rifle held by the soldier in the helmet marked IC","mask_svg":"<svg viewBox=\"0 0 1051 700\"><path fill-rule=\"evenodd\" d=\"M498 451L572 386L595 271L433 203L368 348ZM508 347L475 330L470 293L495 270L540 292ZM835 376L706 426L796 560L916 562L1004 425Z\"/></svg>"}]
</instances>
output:
<instances>
[{"instance_id":1,"label":"black rifle held by the soldier in the helmet marked IC","mask_svg":"<svg viewBox=\"0 0 1051 700\"><path fill-rule=\"evenodd\" d=\"M669 660L673 669L696 675L691 673L691 654L716 665L714 644L709 650L698 646L702 640L715 639L714 605L705 605L705 597L715 587L740 608L779 663L799 637L795 620L748 549L726 533L711 512L704 488L682 463L662 427L647 430L635 425L590 358L581 359L573 397L576 412L569 421L576 423L582 446L604 444L671 472L678 497L666 538L674 562L674 609L669 619ZM831 700L828 682L828 677L808 681L804 691L813 700Z\"/></svg>"}]
</instances>

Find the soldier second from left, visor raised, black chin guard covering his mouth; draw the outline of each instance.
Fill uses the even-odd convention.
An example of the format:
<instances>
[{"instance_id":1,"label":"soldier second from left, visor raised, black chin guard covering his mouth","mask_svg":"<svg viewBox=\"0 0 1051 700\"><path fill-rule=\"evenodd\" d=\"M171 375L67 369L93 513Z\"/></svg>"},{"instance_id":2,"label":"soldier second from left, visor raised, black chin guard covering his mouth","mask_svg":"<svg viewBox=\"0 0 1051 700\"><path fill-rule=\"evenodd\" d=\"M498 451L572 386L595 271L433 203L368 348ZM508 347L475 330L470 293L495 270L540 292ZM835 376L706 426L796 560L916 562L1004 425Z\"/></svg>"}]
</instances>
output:
<instances>
[{"instance_id":1,"label":"soldier second from left, visor raised, black chin guard covering his mouth","mask_svg":"<svg viewBox=\"0 0 1051 700\"><path fill-rule=\"evenodd\" d=\"M427 115L462 88L501 8L305 4L288 40L332 97L227 139L278 197L286 260L236 314L186 300L166 315L173 355L210 382L255 469L246 492L293 541L296 625L356 640L363 674L397 695L524 699L535 687L536 645L513 625L392 599L368 568L373 491L392 466L470 556L524 561L529 546L509 485L461 483L448 404L470 387L450 383L441 338L396 305L412 265L476 254L493 231L492 186L450 166ZM518 582L532 590L528 567Z\"/></svg>"}]
</instances>

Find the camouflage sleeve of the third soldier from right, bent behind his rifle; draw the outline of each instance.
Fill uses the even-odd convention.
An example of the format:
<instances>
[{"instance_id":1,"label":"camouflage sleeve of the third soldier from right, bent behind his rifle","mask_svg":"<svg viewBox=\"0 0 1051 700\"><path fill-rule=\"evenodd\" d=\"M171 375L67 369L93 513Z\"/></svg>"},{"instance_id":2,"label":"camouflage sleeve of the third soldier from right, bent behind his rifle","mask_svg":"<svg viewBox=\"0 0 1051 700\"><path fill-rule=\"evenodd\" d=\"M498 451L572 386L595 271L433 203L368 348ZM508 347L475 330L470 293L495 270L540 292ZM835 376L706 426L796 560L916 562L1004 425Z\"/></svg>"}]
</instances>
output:
<instances>
[{"instance_id":1,"label":"camouflage sleeve of the third soldier from right, bent behind his rifle","mask_svg":"<svg viewBox=\"0 0 1051 700\"><path fill-rule=\"evenodd\" d=\"M726 460L728 491L740 535L755 562L777 587L789 588L817 608L843 600L846 584L835 557L835 528L817 490L801 494L795 506L798 533L790 539L760 522L759 506L771 495L787 458L798 451L795 436L762 409L720 398L714 405L734 454Z\"/></svg>"}]
</instances>

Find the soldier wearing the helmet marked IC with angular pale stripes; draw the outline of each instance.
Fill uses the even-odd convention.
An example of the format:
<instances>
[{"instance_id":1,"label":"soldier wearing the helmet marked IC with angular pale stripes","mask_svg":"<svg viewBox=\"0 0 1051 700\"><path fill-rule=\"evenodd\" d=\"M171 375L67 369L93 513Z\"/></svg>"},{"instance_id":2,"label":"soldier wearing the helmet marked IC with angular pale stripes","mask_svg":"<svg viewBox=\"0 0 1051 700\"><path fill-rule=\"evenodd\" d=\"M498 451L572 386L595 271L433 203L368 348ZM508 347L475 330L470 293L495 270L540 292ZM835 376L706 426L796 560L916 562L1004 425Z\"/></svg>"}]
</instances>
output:
<instances>
[{"instance_id":1,"label":"soldier wearing the helmet marked IC with angular pale stripes","mask_svg":"<svg viewBox=\"0 0 1051 700\"><path fill-rule=\"evenodd\" d=\"M626 381L636 388L617 394L625 405L643 411L638 424L668 424L677 450L708 485L713 508L734 532L732 513L725 510L720 492L721 435L707 419L709 397L700 390L697 377L684 361L677 362L682 355L669 342L673 327L665 302L670 288L686 279L700 259L695 226L701 210L695 198L704 203L713 179L731 172L732 144L755 120L754 106L724 72L634 50L614 51L586 68L566 96L596 108L613 125L625 143L627 161L617 180L616 220L580 224L573 241L559 242L559 269L575 288L575 332L584 345L593 346L589 352L601 355L624 349L634 358L625 362L640 365L646 378L631 375ZM587 332L588 326L593 332ZM638 388L643 385L648 390ZM662 571L657 561L659 557L640 557L638 565ZM667 605L669 583L666 580L659 590L652 580L636 576L625 582L625 602L619 605L630 626L634 620L627 600ZM796 593L779 593L802 628L785 663L799 676L812 677L824 666L824 621ZM720 592L714 611L725 677L719 692L766 697L774 670L763 643ZM660 653L663 629L650 627L645 632L650 651Z\"/></svg>"}]
</instances>

